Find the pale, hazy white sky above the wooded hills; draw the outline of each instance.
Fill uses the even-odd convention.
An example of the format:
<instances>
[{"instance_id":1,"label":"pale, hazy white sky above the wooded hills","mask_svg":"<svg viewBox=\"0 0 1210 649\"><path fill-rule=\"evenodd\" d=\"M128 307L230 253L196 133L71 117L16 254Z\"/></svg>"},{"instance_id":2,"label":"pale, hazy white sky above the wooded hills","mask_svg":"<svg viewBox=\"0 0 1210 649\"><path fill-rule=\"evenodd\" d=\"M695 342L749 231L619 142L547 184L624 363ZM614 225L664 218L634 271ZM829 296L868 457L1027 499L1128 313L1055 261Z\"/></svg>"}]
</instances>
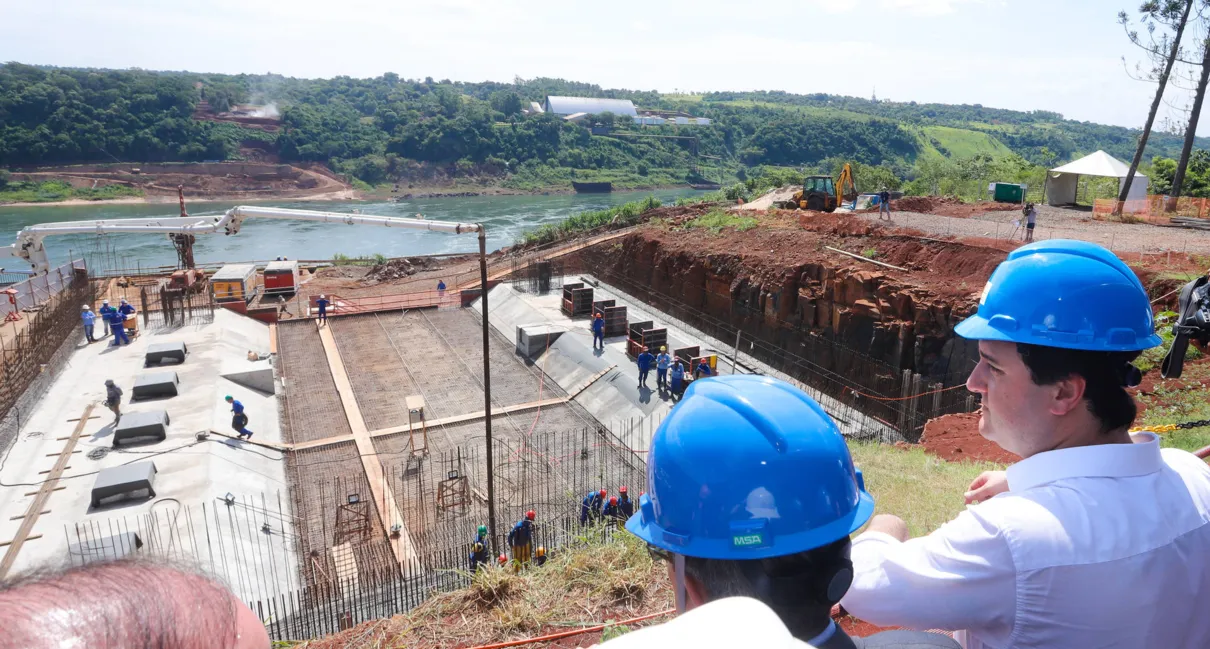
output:
<instances>
[{"instance_id":1,"label":"pale, hazy white sky above the wooded hills","mask_svg":"<svg viewBox=\"0 0 1210 649\"><path fill-rule=\"evenodd\" d=\"M1117 23L1139 2L0 0L0 62L876 92L1140 127L1154 86L1128 75L1140 56ZM1187 94L1169 92L1162 117L1180 117ZM1199 134L1210 136L1210 124Z\"/></svg>"}]
</instances>

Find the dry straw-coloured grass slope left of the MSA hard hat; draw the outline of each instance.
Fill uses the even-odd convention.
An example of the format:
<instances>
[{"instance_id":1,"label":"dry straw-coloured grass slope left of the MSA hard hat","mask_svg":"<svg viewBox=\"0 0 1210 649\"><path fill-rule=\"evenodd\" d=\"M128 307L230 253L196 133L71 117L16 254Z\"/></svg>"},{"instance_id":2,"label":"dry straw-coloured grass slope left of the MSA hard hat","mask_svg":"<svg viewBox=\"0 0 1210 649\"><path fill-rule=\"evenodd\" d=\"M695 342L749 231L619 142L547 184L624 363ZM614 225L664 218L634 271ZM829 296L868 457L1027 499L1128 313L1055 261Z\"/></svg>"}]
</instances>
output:
<instances>
[{"instance_id":1,"label":"dry straw-coloured grass slope left of the MSA hard hat","mask_svg":"<svg viewBox=\"0 0 1210 649\"><path fill-rule=\"evenodd\" d=\"M437 595L411 613L296 647L477 647L629 620L673 607L667 569L651 561L639 539L618 533L603 542L599 534L595 536L598 540L586 538L574 550L552 553L541 568L480 570L471 587Z\"/></svg>"}]
</instances>

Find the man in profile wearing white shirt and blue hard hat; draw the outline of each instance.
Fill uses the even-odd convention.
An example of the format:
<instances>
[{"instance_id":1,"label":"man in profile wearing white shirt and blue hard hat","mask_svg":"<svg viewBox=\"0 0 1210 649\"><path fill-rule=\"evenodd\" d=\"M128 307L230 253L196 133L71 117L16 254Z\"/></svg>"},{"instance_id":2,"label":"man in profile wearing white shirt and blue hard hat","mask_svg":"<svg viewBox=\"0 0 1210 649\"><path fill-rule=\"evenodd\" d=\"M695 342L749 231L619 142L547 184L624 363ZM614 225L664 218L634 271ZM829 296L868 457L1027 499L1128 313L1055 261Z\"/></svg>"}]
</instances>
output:
<instances>
[{"instance_id":1,"label":"man in profile wearing white shirt and blue hard hat","mask_svg":"<svg viewBox=\"0 0 1210 649\"><path fill-rule=\"evenodd\" d=\"M979 340L979 432L1024 459L928 536L875 516L842 605L970 649L1210 647L1210 467L1127 432L1130 361L1160 343L1134 272L1093 243L1022 246L955 332Z\"/></svg>"}]
</instances>

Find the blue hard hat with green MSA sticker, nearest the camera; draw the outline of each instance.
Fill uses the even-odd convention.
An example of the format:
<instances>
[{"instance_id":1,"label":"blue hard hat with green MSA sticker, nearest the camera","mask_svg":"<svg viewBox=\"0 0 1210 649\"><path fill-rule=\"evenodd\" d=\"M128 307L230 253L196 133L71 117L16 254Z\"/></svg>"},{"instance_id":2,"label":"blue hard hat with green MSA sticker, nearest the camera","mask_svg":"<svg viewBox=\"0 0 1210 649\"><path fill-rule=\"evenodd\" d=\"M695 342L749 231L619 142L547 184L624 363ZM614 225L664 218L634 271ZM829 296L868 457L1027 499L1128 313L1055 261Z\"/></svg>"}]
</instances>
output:
<instances>
[{"instance_id":1,"label":"blue hard hat with green MSA sticker, nearest the camera","mask_svg":"<svg viewBox=\"0 0 1210 649\"><path fill-rule=\"evenodd\" d=\"M688 557L762 559L848 536L874 513L836 424L805 392L751 374L693 381L651 440L626 528Z\"/></svg>"}]
</instances>

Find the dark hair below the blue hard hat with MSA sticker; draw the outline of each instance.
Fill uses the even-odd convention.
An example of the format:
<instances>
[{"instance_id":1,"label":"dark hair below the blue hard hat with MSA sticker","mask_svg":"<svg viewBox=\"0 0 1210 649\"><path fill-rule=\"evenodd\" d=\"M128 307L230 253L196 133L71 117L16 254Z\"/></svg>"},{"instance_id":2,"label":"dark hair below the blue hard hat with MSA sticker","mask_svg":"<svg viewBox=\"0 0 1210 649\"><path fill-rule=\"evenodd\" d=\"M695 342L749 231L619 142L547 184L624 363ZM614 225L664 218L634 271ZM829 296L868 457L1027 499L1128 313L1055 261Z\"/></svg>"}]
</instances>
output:
<instances>
[{"instance_id":1,"label":"dark hair below the blue hard hat with MSA sticker","mask_svg":"<svg viewBox=\"0 0 1210 649\"><path fill-rule=\"evenodd\" d=\"M685 557L685 573L705 588L710 602L725 597L760 599L777 613L791 634L811 638L828 626L832 604L852 579L849 547L845 536L823 547L767 559ZM843 588L829 593L832 576L840 570L847 570L841 576Z\"/></svg>"}]
</instances>

